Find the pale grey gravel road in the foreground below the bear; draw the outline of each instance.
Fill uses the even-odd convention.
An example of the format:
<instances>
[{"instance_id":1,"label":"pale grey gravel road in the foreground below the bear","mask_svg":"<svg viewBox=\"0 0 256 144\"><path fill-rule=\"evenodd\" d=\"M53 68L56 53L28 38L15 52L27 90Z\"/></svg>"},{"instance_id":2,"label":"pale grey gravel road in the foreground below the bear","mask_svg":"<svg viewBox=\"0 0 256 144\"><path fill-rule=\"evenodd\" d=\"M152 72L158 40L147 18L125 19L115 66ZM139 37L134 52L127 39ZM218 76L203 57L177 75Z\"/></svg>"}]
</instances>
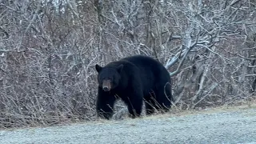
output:
<instances>
[{"instance_id":1,"label":"pale grey gravel road in the foreground below the bear","mask_svg":"<svg viewBox=\"0 0 256 144\"><path fill-rule=\"evenodd\" d=\"M247 143L256 144L256 108L204 110L122 121L1 130L0 143Z\"/></svg>"}]
</instances>

